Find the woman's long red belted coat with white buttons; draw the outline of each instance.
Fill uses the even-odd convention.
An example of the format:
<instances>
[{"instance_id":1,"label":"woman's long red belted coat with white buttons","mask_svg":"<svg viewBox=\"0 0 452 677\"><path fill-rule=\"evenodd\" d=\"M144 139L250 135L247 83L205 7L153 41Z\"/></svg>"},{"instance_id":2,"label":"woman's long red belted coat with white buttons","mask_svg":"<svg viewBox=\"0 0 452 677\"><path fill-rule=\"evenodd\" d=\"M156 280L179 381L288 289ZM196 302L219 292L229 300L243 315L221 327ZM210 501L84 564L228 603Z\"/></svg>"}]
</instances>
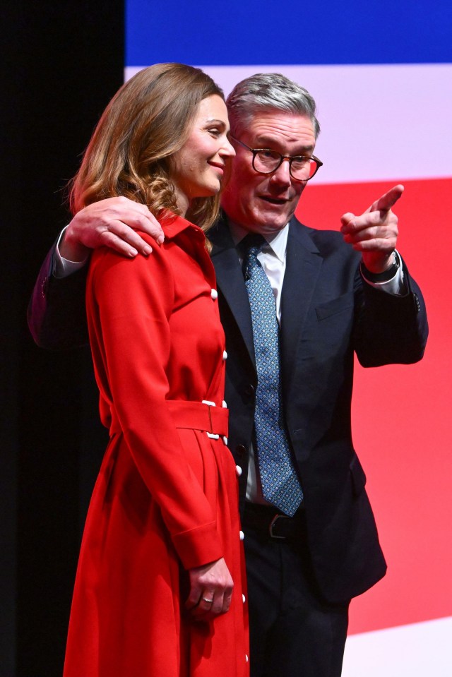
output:
<instances>
[{"instance_id":1,"label":"woman's long red belted coat with white buttons","mask_svg":"<svg viewBox=\"0 0 452 677\"><path fill-rule=\"evenodd\" d=\"M213 439L209 424L193 424L190 412L187 419L167 402L222 408L215 273L201 229L177 217L164 230L161 247L148 239L148 258L102 248L90 264L90 343L111 437L83 534L64 677L248 674L225 410L214 412ZM208 414L206 405L194 407ZM186 569L220 557L234 580L232 606L211 623L194 623L184 613Z\"/></svg>"}]
</instances>

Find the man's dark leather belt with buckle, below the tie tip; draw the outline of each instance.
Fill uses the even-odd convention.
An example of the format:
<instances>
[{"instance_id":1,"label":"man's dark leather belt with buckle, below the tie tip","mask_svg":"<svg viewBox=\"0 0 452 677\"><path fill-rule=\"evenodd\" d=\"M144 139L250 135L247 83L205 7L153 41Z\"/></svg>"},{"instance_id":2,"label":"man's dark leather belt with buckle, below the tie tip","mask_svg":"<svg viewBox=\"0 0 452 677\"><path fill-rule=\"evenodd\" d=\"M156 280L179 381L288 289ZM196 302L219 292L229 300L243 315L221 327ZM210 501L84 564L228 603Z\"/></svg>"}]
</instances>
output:
<instances>
[{"instance_id":1,"label":"man's dark leather belt with buckle, below the tie tip","mask_svg":"<svg viewBox=\"0 0 452 677\"><path fill-rule=\"evenodd\" d=\"M303 513L303 504L293 517L287 517L287 515L278 513L278 510L271 505L247 501L242 524L245 534L246 529L250 529L261 537L275 541L299 541L305 531Z\"/></svg>"}]
</instances>

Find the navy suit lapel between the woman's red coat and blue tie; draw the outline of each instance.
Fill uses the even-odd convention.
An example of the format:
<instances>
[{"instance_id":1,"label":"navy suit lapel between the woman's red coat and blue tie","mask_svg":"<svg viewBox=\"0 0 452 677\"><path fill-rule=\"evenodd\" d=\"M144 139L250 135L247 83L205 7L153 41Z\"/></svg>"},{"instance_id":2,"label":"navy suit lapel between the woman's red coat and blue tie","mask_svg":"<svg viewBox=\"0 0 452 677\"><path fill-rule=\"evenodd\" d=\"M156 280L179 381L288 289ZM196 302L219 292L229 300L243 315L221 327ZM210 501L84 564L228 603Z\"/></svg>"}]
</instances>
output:
<instances>
[{"instance_id":1,"label":"navy suit lapel between the woman's red coat and blue tie","mask_svg":"<svg viewBox=\"0 0 452 677\"><path fill-rule=\"evenodd\" d=\"M210 229L208 237L213 246L210 256L215 267L218 290L237 322L251 361L254 364L253 328L249 299L237 250L225 217L220 218L215 227Z\"/></svg>"}]
</instances>

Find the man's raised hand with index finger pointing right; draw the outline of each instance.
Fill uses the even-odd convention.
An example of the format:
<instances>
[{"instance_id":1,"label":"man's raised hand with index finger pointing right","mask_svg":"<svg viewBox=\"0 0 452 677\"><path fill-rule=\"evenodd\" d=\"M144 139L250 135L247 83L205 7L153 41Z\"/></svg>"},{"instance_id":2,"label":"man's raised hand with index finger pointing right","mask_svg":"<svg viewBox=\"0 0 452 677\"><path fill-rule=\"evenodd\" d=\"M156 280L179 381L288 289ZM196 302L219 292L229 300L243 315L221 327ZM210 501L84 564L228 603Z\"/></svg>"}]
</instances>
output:
<instances>
[{"instance_id":1,"label":"man's raised hand with index finger pointing right","mask_svg":"<svg viewBox=\"0 0 452 677\"><path fill-rule=\"evenodd\" d=\"M361 216L347 212L340 220L345 242L362 252L364 265L370 272L383 272L393 264L393 251L398 236L398 218L391 208L403 193L403 186L394 186L376 200Z\"/></svg>"}]
</instances>

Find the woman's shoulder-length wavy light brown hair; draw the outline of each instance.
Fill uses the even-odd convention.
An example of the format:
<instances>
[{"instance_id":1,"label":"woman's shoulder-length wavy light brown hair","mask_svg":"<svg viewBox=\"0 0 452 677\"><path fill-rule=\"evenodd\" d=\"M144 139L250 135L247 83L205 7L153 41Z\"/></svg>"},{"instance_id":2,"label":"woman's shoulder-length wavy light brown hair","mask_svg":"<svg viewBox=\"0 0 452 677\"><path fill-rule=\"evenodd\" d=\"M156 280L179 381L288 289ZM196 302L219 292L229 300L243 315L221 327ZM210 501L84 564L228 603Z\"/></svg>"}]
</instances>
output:
<instances>
[{"instance_id":1,"label":"woman's shoulder-length wavy light brown hair","mask_svg":"<svg viewBox=\"0 0 452 677\"><path fill-rule=\"evenodd\" d=\"M109 102L81 167L71 181L69 203L86 205L117 196L148 205L155 216L180 213L171 181L171 157L191 131L199 104L222 90L199 68L155 64L136 73ZM191 201L186 217L203 230L213 224L220 194Z\"/></svg>"}]
</instances>

